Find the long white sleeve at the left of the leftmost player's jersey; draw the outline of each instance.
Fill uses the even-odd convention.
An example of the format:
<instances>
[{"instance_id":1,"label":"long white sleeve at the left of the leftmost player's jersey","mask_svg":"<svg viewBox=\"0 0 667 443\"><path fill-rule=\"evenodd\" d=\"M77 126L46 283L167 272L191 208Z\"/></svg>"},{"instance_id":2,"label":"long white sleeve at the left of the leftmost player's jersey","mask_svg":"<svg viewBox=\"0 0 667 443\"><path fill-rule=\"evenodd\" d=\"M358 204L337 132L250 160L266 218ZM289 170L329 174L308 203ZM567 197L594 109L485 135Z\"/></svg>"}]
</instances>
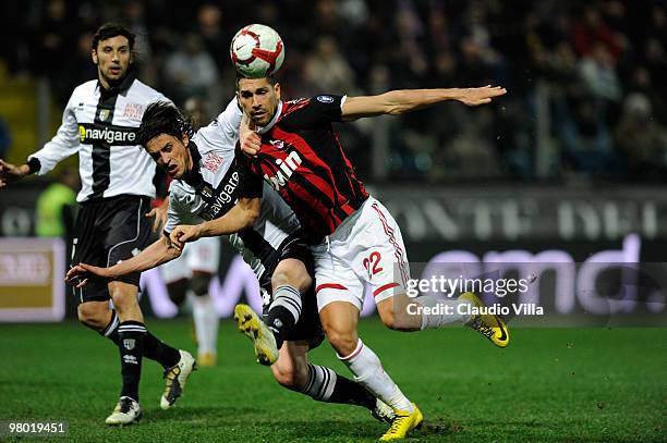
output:
<instances>
[{"instance_id":1,"label":"long white sleeve at the left of the leftmost player's jersey","mask_svg":"<svg viewBox=\"0 0 667 443\"><path fill-rule=\"evenodd\" d=\"M50 141L44 145L37 152L28 156L31 159L39 160L38 175L51 171L63 159L76 153L80 149L78 123L74 114L74 94L62 112L62 123Z\"/></svg>"}]
</instances>

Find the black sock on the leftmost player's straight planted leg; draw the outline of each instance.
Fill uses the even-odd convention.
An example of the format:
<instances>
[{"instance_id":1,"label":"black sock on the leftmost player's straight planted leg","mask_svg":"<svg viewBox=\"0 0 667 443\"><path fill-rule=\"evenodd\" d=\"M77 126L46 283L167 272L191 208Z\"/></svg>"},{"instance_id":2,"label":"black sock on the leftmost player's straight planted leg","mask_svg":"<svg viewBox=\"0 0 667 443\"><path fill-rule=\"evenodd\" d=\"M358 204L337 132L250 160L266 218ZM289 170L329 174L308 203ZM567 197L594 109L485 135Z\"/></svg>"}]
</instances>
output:
<instances>
[{"instance_id":1,"label":"black sock on the leftmost player's straight planted leg","mask_svg":"<svg viewBox=\"0 0 667 443\"><path fill-rule=\"evenodd\" d=\"M123 389L121 396L128 396L138 402L138 384L142 378L142 357L146 327L141 321L123 321L118 327L121 374Z\"/></svg>"}]
</instances>

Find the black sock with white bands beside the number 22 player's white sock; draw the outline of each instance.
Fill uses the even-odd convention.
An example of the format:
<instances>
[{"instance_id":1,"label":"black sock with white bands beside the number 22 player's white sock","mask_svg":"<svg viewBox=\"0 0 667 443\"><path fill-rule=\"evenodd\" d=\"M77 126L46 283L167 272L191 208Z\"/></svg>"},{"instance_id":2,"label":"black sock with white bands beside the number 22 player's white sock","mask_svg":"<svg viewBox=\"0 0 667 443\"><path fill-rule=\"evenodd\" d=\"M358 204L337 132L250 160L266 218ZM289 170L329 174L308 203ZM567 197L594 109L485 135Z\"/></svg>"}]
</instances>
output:
<instances>
[{"instance_id":1,"label":"black sock with white bands beside the number 22 player's white sock","mask_svg":"<svg viewBox=\"0 0 667 443\"><path fill-rule=\"evenodd\" d=\"M373 410L376 399L364 386L324 366L308 364L308 381L302 390L318 402L364 406Z\"/></svg>"}]
</instances>

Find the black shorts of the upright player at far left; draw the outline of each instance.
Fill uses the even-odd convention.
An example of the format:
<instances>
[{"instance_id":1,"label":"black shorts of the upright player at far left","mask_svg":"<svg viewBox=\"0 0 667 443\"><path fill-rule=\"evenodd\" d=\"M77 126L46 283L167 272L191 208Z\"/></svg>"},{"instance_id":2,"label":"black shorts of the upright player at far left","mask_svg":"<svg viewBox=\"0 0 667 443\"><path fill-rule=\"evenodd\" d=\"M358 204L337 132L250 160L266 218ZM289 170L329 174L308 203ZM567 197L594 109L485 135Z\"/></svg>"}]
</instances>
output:
<instances>
[{"instance_id":1,"label":"black shorts of the upright player at far left","mask_svg":"<svg viewBox=\"0 0 667 443\"><path fill-rule=\"evenodd\" d=\"M149 242L153 223L145 217L150 198L121 195L81 205L72 241L72 264L87 263L107 268L138 254ZM138 286L141 273L116 281ZM108 300L108 282L89 279L74 288L81 303Z\"/></svg>"}]
</instances>

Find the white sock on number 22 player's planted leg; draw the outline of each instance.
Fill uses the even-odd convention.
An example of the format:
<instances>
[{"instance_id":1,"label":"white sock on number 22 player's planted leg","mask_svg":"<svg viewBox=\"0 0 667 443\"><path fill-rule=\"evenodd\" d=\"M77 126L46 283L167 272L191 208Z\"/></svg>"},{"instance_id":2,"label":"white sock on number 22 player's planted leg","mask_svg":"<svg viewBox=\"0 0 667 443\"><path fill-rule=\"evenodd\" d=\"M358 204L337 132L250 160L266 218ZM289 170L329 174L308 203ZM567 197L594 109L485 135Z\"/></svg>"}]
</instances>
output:
<instances>
[{"instance_id":1,"label":"white sock on number 22 player's planted leg","mask_svg":"<svg viewBox=\"0 0 667 443\"><path fill-rule=\"evenodd\" d=\"M359 339L356 348L347 357L338 356L354 374L354 381L393 409L412 413L412 403L389 377L375 353Z\"/></svg>"}]
</instances>

